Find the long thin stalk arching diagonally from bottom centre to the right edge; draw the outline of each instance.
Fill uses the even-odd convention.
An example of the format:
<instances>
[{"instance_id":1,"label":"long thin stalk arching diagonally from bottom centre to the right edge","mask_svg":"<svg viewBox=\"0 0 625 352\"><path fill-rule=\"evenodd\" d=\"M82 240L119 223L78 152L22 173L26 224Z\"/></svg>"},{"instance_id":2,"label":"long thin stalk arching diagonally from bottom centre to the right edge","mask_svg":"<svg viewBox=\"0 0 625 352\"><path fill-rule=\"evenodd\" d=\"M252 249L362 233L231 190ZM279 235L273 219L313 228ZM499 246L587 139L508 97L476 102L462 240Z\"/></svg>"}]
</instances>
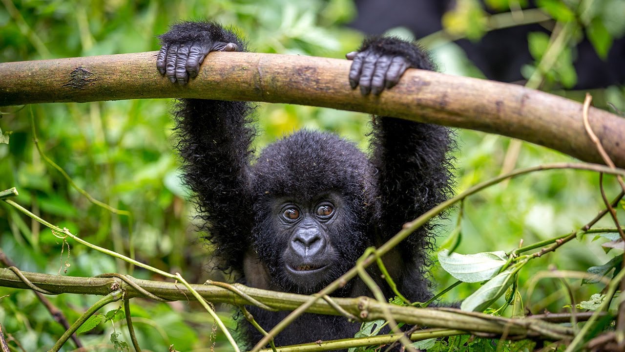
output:
<instances>
[{"instance_id":1,"label":"long thin stalk arching diagonally from bottom centre to the right edge","mask_svg":"<svg viewBox=\"0 0 625 352\"><path fill-rule=\"evenodd\" d=\"M450 207L451 205L456 204L460 200L465 199L469 195L479 192L482 189L486 189L487 187L490 187L492 185L498 184L499 182L502 182L503 180L509 179L511 177L517 177L519 175L524 175L526 173L531 173L531 172L538 172L538 171L544 171L544 170L558 170L558 169L563 169L563 168L571 168L575 170L591 170L591 171L596 171L596 172L609 173L612 175L625 175L624 169L621 169L621 168L613 169L613 168L606 167L604 165L597 165L597 164L591 164L591 163L551 163L551 164L538 165L535 167L528 167L528 168L522 168L519 170L514 170L511 173L506 173L505 175L500 175L498 177L495 177L494 179L487 180L487 181L481 182L480 184L474 185L473 187L470 187L466 191L462 192L462 194L459 194L456 197L453 197L452 199L448 199L442 202L441 204L436 205L436 207L428 210L427 212L422 214L420 217L417 217L417 219L414 219L411 222L407 222L406 224L404 224L403 229L401 231L397 232L395 236L391 237L389 241L382 244L382 246L380 246L377 249L376 256L383 256L384 254L386 254L386 252L390 251L393 247L397 246L399 242L403 241L407 236L409 236L412 232L414 232L414 230L418 229L427 221L432 219L432 217L436 216L447 207ZM367 267L371 265L374 261L376 261L376 256L371 255L371 256L366 257L365 259L361 261L361 266ZM254 346L254 348L251 349L250 352L258 352L262 348L262 346L265 346L269 342L269 339L271 339L273 336L276 336L276 334L278 334L280 331L284 330L284 328L286 328L289 324L291 324L292 321L294 321L297 317L301 316L301 314L304 313L306 309L310 308L312 304L316 303L316 301L322 295L330 294L331 292L334 292L334 290L343 286L347 281L353 279L356 276L358 270L359 269L357 268L357 266L353 267L352 269L349 269L349 271L347 271L345 274L343 274L341 277L339 277L335 281L332 281L330 284L328 284L328 286L326 286L324 289L319 291L319 293L315 294L306 303L302 304L301 306L296 308L294 311L292 311L289 315L287 315L284 319L282 319L280 323L277 323L276 326L274 326L274 328L272 328L269 331L267 336L264 336L261 339L261 341L259 341L256 344L256 346Z\"/></svg>"}]
</instances>

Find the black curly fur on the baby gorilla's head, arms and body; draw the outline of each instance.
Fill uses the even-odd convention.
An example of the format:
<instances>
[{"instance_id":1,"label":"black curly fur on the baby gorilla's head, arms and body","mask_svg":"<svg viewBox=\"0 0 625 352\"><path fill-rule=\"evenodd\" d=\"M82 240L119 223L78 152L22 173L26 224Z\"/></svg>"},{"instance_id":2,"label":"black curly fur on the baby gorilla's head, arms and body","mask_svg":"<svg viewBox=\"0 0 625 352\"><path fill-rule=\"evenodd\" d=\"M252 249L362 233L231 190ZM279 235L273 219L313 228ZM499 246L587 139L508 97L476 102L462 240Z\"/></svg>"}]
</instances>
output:
<instances>
[{"instance_id":1,"label":"black curly fur on the baby gorilla's head, arms and body","mask_svg":"<svg viewBox=\"0 0 625 352\"><path fill-rule=\"evenodd\" d=\"M222 41L245 48L232 31L209 22L176 24L160 38L163 44ZM404 56L415 68L434 69L421 49L397 38L368 38L361 50L367 48ZM252 251L258 265L266 266L271 288L303 292L284 275L284 264L277 255L287 241L280 241L274 230L270 209L275 199L306 200L323 192L340 195L342 220L327 229L341 259L341 265L328 277L331 281L352 267L367 246L379 246L404 222L451 195L448 152L453 142L447 128L376 116L370 158L336 135L304 130L269 145L252 160L252 110L241 101L188 99L176 106L184 181L195 194L202 230L214 244L220 268L234 271L241 282L253 279L244 271L244 257ZM432 224L422 227L385 257L397 288L412 301L431 297L424 269L429 264L432 229ZM376 269L371 271L379 277ZM304 293L327 282L318 282ZM383 281L379 284L392 296ZM370 295L362 282L354 279L334 295L362 294ZM250 310L266 330L287 314ZM304 314L277 336L276 344L349 338L358 328L358 323L341 317ZM243 333L249 344L261 338L253 328Z\"/></svg>"}]
</instances>

